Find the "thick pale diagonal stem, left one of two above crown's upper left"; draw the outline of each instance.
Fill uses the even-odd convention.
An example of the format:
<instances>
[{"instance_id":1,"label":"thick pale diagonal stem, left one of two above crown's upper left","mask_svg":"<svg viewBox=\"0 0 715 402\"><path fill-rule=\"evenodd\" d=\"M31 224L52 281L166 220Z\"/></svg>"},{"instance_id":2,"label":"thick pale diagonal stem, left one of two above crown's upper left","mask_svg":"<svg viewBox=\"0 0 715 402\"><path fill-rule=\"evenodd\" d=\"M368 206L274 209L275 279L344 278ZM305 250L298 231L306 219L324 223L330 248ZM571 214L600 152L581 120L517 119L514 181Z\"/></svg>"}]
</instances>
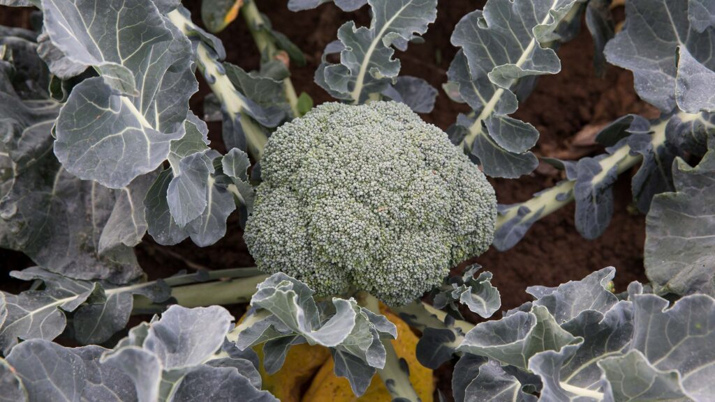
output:
<instances>
[{"instance_id":1,"label":"thick pale diagonal stem, left one of two above crown's upper left","mask_svg":"<svg viewBox=\"0 0 715 402\"><path fill-rule=\"evenodd\" d=\"M167 16L184 34L192 36L192 31L194 31L196 25L194 25L191 20L179 13L178 10L170 12ZM263 156L263 148L268 142L268 136L246 113L247 106L240 96L238 96L238 90L233 86L228 76L226 76L226 71L218 60L215 51L209 48L207 44L204 44L204 42L198 41L196 54L197 66L207 84L209 84L209 88L211 88L211 91L213 91L216 97L221 101L230 119L240 121L246 136L248 151L259 161Z\"/></svg>"}]
</instances>

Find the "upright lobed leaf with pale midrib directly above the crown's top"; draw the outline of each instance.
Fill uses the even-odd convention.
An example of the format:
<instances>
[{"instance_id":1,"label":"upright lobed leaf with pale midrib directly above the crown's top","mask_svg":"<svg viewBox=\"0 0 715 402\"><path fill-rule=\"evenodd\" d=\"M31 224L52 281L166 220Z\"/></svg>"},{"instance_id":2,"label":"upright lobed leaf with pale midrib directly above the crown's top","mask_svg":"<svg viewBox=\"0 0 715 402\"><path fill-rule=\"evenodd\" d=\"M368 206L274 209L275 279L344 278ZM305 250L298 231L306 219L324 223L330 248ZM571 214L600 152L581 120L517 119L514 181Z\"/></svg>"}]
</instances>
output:
<instances>
[{"instance_id":1,"label":"upright lobed leaf with pale midrib directly above the crown's top","mask_svg":"<svg viewBox=\"0 0 715 402\"><path fill-rule=\"evenodd\" d=\"M436 0L368 0L372 8L370 28L350 21L337 31L342 42L340 64L327 63L335 50L326 47L315 82L337 99L363 103L370 94L380 94L400 71L392 46L407 48L408 41L427 31L437 16Z\"/></svg>"}]
</instances>

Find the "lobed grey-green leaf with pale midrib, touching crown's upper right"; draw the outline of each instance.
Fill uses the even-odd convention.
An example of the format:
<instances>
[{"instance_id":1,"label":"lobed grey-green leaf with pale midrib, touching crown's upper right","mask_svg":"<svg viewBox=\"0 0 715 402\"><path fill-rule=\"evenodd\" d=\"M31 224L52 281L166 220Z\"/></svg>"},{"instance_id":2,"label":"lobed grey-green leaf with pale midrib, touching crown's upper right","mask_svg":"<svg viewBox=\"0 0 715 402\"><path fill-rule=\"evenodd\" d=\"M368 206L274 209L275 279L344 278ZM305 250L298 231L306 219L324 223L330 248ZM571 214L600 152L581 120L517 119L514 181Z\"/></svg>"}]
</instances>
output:
<instances>
[{"instance_id":1,"label":"lobed grey-green leaf with pale midrib, touching crown's upper right","mask_svg":"<svg viewBox=\"0 0 715 402\"><path fill-rule=\"evenodd\" d=\"M474 111L457 124L468 129L462 144L485 174L516 178L536 169L536 156L528 150L538 131L507 115L517 109L519 79L561 70L556 51L541 43L558 39L556 27L577 3L490 0L483 11L465 15L455 26L452 44L461 49L450 65L445 91Z\"/></svg>"}]
</instances>

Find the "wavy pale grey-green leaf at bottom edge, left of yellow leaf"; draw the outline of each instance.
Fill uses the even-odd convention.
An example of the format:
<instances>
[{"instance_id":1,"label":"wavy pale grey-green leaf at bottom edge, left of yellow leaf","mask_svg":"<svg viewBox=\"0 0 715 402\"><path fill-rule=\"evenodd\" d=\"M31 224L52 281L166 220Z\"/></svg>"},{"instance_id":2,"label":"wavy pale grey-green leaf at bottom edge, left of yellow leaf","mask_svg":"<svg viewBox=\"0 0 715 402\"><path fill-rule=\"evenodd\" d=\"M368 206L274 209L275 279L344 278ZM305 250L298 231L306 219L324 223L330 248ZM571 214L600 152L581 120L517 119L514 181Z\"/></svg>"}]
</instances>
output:
<instances>
[{"instance_id":1,"label":"wavy pale grey-green leaf at bottom edge, left of yellow leaf","mask_svg":"<svg viewBox=\"0 0 715 402\"><path fill-rule=\"evenodd\" d=\"M132 378L139 402L276 402L257 388L260 379L250 361L215 355L225 346L231 321L220 306L172 306L130 331L104 353L102 363Z\"/></svg>"}]
</instances>

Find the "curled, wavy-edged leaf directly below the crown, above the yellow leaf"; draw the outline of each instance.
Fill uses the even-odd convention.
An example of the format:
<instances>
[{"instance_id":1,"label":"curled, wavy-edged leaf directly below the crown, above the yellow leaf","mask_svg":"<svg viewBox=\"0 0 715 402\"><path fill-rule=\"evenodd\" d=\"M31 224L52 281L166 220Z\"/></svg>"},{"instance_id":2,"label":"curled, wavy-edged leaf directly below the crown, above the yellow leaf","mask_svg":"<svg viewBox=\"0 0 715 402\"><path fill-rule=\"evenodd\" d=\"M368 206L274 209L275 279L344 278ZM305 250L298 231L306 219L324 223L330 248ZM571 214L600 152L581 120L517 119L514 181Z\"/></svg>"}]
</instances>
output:
<instances>
[{"instance_id":1,"label":"curled, wavy-edged leaf directly below the crown, above the yellow leaf","mask_svg":"<svg viewBox=\"0 0 715 402\"><path fill-rule=\"evenodd\" d=\"M294 344L307 341L327 346L335 359L335 375L346 377L360 396L370 385L375 369L385 366L386 352L380 338L397 338L397 328L387 318L358 306L352 298L316 303L312 295L305 283L285 273L267 278L251 299L251 306L267 316L243 330L236 346L245 350L267 342L264 351L274 355L266 367L271 372L280 368L287 348Z\"/></svg>"}]
</instances>

